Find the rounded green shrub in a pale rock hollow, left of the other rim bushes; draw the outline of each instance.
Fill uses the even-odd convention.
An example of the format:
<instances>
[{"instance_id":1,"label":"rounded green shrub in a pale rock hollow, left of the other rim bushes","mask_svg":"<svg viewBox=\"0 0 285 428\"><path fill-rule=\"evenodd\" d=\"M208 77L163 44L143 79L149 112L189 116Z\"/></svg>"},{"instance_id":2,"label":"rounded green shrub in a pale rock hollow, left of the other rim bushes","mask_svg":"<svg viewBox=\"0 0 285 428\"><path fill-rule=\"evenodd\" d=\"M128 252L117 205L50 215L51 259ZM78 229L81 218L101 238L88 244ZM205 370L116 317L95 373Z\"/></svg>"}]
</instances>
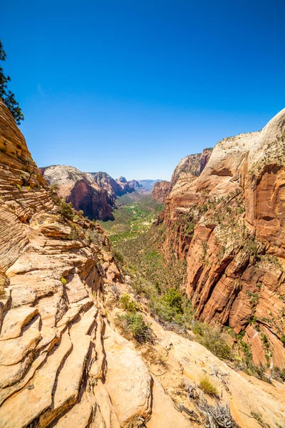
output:
<instances>
[{"instance_id":1,"label":"rounded green shrub in a pale rock hollow, left of the other rim bushes","mask_svg":"<svg viewBox=\"0 0 285 428\"><path fill-rule=\"evenodd\" d=\"M152 329L145 323L140 313L117 315L117 325L126 336L132 335L137 342L143 343L151 339Z\"/></svg>"}]
</instances>

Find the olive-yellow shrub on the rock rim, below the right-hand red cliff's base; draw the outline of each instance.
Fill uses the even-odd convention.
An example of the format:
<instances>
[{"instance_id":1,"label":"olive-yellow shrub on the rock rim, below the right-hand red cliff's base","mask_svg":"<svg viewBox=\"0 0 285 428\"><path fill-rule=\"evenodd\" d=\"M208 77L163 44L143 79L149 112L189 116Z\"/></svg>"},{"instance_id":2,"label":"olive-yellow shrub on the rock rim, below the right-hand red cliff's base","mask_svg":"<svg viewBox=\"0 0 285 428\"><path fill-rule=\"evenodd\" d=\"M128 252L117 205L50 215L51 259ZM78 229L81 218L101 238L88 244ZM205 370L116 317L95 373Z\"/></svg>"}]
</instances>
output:
<instances>
[{"instance_id":1,"label":"olive-yellow shrub on the rock rim, below the right-hand red cliff's base","mask_svg":"<svg viewBox=\"0 0 285 428\"><path fill-rule=\"evenodd\" d=\"M192 331L197 335L197 341L211 351L212 354L224 360L233 360L232 347L227 341L226 335L218 325L193 322Z\"/></svg>"}]
</instances>

